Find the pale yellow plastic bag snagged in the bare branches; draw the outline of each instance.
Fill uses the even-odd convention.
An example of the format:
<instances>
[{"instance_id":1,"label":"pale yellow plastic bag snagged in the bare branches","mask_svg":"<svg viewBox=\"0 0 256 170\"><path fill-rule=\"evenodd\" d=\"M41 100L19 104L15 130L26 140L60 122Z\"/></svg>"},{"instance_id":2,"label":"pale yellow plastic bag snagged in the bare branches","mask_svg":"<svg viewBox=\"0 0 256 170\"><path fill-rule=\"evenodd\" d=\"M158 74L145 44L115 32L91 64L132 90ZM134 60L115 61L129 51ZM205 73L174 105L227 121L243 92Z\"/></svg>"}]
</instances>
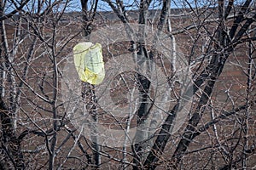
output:
<instances>
[{"instance_id":1,"label":"pale yellow plastic bag snagged in the bare branches","mask_svg":"<svg viewBox=\"0 0 256 170\"><path fill-rule=\"evenodd\" d=\"M79 78L83 82L99 84L105 77L102 45L81 42L73 48L73 59Z\"/></svg>"}]
</instances>

